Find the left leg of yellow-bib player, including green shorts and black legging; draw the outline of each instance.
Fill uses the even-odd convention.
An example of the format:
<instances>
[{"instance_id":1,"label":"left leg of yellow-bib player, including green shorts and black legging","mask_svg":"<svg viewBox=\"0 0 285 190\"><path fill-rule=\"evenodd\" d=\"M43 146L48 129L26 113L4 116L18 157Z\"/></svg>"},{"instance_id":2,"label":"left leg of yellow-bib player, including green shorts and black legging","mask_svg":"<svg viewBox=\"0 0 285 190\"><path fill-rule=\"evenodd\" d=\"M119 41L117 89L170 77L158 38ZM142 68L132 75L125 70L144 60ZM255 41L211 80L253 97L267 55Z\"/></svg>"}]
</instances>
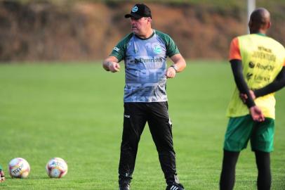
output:
<instances>
[{"instance_id":1,"label":"left leg of yellow-bib player, including green shorts and black legging","mask_svg":"<svg viewBox=\"0 0 285 190\"><path fill-rule=\"evenodd\" d=\"M220 189L234 188L235 168L239 152L246 148L253 130L251 115L230 118L225 132L223 166L220 175Z\"/></svg>"}]
</instances>

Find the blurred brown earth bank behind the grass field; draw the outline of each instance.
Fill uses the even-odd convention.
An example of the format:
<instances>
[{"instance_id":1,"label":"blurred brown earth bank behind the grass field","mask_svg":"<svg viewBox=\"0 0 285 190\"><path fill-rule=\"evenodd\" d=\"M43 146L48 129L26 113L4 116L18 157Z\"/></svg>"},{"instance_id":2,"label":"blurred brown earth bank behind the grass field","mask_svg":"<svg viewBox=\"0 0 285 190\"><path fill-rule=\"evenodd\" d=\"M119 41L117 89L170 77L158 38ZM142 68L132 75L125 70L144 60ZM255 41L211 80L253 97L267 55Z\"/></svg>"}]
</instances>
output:
<instances>
[{"instance_id":1,"label":"blurred brown earth bank behind the grass field","mask_svg":"<svg viewBox=\"0 0 285 190\"><path fill-rule=\"evenodd\" d=\"M247 1L143 1L154 29L170 34L187 59L227 58L247 32ZM130 32L124 18L138 1L0 1L0 62L95 61ZM285 1L256 0L272 14L269 36L285 42Z\"/></svg>"}]
</instances>

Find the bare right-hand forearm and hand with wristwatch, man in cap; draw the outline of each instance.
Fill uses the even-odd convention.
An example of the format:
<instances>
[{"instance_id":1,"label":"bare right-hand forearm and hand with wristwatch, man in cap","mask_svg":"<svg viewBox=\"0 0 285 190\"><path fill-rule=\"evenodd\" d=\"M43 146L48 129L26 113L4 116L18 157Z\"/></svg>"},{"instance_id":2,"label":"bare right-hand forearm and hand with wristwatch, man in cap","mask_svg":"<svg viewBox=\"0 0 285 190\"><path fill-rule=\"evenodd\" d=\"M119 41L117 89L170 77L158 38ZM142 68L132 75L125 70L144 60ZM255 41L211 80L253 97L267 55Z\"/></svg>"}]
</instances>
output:
<instances>
[{"instance_id":1,"label":"bare right-hand forearm and hand with wristwatch, man in cap","mask_svg":"<svg viewBox=\"0 0 285 190\"><path fill-rule=\"evenodd\" d=\"M166 71L167 78L174 78L176 72L181 72L186 67L185 59L180 53L171 56L171 61L173 61L173 65L171 65Z\"/></svg>"}]
</instances>

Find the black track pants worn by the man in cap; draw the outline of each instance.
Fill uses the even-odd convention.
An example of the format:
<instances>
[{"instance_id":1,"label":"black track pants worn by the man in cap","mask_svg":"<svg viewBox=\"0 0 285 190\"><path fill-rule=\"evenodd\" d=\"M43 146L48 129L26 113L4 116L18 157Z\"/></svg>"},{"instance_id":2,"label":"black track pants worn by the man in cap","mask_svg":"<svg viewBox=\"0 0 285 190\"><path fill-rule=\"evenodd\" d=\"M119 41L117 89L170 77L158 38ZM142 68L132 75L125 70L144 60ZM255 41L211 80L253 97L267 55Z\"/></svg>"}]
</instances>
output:
<instances>
[{"instance_id":1,"label":"black track pants worn by the man in cap","mask_svg":"<svg viewBox=\"0 0 285 190\"><path fill-rule=\"evenodd\" d=\"M124 129L119 162L119 184L129 183L135 167L138 142L146 122L157 147L166 183L175 182L176 166L167 102L124 103Z\"/></svg>"}]
</instances>

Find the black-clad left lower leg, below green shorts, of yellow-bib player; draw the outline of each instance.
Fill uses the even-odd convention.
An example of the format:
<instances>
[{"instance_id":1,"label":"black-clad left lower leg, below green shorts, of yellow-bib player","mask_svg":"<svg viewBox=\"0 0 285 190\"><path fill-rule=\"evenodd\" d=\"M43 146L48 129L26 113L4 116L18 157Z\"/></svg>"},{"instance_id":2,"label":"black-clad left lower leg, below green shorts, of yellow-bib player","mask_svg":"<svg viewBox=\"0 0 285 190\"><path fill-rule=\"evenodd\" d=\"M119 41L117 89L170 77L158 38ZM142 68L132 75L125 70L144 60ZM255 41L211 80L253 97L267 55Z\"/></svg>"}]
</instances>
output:
<instances>
[{"instance_id":1,"label":"black-clad left lower leg, below green shorts, of yellow-bib player","mask_svg":"<svg viewBox=\"0 0 285 190\"><path fill-rule=\"evenodd\" d=\"M220 189L234 189L235 169L239 152L231 152L224 150L222 172L220 173Z\"/></svg>"}]
</instances>

